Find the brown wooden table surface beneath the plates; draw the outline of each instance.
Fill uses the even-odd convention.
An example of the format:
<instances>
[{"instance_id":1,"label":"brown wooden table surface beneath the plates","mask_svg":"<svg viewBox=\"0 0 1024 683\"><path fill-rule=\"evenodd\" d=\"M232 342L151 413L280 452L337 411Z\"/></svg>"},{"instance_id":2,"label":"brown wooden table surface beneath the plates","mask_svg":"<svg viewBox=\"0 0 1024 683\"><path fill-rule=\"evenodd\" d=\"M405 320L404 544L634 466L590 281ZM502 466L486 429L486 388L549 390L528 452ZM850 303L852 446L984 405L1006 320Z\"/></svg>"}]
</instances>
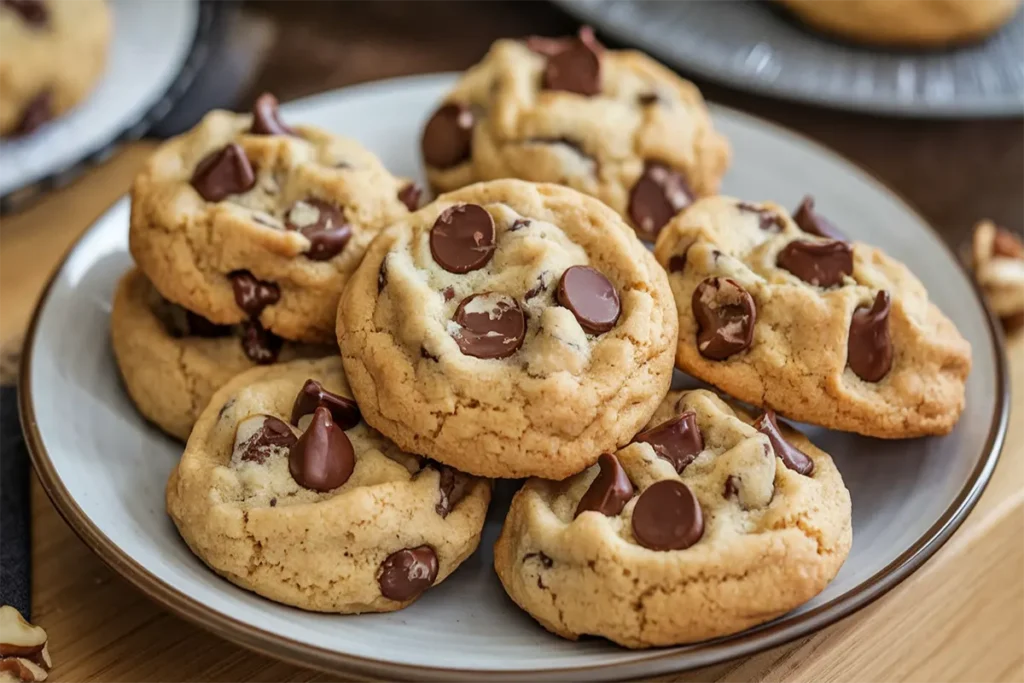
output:
<instances>
[{"instance_id":1,"label":"brown wooden table surface beneath the plates","mask_svg":"<svg viewBox=\"0 0 1024 683\"><path fill-rule=\"evenodd\" d=\"M465 68L500 35L557 34L538 1L260 0L278 41L258 91L283 98L419 71ZM372 6L369 6L372 5ZM283 17L284 7L289 16ZM453 30L453 27L458 27ZM400 38L398 38L400 37ZM952 243L979 216L1024 226L1024 122L885 121L706 87L711 98L817 137L888 181ZM152 150L131 145L23 214L0 219L0 376L16 356L38 292L63 250L127 188ZM1024 382L1024 339L1010 343ZM932 560L858 614L791 645L663 681L1024 681L1024 397L977 509ZM1014 424L1016 422L1016 424ZM59 683L282 683L339 680L241 650L172 616L108 569L33 484L34 617L50 635Z\"/></svg>"}]
</instances>

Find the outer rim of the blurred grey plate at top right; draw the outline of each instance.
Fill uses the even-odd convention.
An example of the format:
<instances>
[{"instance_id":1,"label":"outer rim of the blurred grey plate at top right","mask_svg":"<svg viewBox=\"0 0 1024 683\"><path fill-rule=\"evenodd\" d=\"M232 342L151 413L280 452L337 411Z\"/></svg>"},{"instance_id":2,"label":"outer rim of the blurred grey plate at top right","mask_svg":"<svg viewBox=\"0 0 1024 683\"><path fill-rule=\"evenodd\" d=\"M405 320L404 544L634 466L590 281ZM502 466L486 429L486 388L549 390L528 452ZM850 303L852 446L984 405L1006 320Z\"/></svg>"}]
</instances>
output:
<instances>
[{"instance_id":1,"label":"outer rim of the blurred grey plate at top right","mask_svg":"<svg viewBox=\"0 0 1024 683\"><path fill-rule=\"evenodd\" d=\"M814 90L803 89L796 86L779 86L776 83L761 81L758 79L744 78L741 74L732 71L715 71L711 67L698 61L680 58L665 50L644 42L640 29L632 26L620 26L610 22L607 17L592 9L587 2L581 0L550 0L552 4L569 16L586 22L596 27L599 31L614 37L616 40L630 45L635 45L639 49L647 50L659 60L664 60L672 66L674 70L692 74L699 78L708 79L719 85L734 88L741 92L753 93L771 99L790 102L802 102L812 106L820 106L837 112L850 112L855 114L873 114L878 116L888 116L898 119L924 119L937 121L958 121L965 119L1012 119L1024 114L1024 97L1018 100L1001 98L996 102L980 102L974 104L944 103L930 105L920 98L903 102L897 99L835 99L822 95L816 95ZM1024 15L1024 8L1021 10ZM1020 19L1015 17L1011 20ZM1024 19L1021 19L1024 20ZM813 29L809 31L815 32ZM825 37L827 40L827 37ZM871 50L869 45L865 49ZM884 48L878 48L884 49ZM872 176L873 177L873 176Z\"/></svg>"}]
</instances>

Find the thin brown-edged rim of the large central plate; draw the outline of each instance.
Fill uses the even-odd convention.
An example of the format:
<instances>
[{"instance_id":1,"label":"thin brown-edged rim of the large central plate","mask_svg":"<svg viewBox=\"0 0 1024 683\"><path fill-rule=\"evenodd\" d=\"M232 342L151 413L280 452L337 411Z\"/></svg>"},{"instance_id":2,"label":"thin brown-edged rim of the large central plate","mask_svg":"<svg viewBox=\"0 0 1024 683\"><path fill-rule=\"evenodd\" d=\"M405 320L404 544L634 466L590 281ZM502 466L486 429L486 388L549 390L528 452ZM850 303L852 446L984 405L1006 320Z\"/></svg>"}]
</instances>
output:
<instances>
[{"instance_id":1,"label":"thin brown-edged rim of the large central plate","mask_svg":"<svg viewBox=\"0 0 1024 683\"><path fill-rule=\"evenodd\" d=\"M431 80L441 80L451 77L451 73L433 73L383 79L319 93L295 100L295 102L303 104L317 98L339 96L346 98L359 97L377 89L416 86ZM303 668L315 668L330 673L342 672L347 676L355 676L364 680L380 680L381 678L393 680L395 677L399 677L401 680L476 681L479 680L480 676L487 676L492 680L514 680L524 676L541 677L538 680L556 680L560 677L577 676L595 670L601 671L602 679L609 678L615 672L633 678L680 673L741 656L749 656L772 647L783 645L830 626L860 610L902 583L944 546L967 518L968 514L974 509L981 498L981 494L988 485L1002 451L1010 417L1008 361L1002 343L1001 328L985 303L981 290L974 279L971 278L967 266L957 258L955 250L942 240L932 224L898 193L885 185L872 173L863 169L855 162L846 159L839 153L801 133L732 108L715 105L715 109L727 113L729 116L745 119L750 123L769 128L775 135L787 137L792 141L809 145L819 155L828 157L833 161L845 163L850 168L857 169L862 175L863 180L873 185L880 193L888 195L891 200L899 204L904 211L914 216L936 237L955 263L955 267L961 270L970 284L975 300L984 312L988 324L990 350L993 354L993 365L995 367L996 403L988 435L985 439L984 456L975 466L970 477L965 481L964 486L952 503L939 516L936 522L910 547L892 562L862 582L855 590L819 605L810 611L804 612L784 625L769 625L751 630L745 634L737 634L727 638L708 641L702 645L706 653L703 657L682 665L672 664L673 658L680 656L678 652L667 651L666 649L649 649L635 650L634 653L637 655L635 658L617 664L584 665L557 669L529 669L515 672L408 665L337 652L251 626L231 615L219 612L183 592L179 592L151 573L138 561L112 542L84 513L77 501L71 496L63 482L57 476L50 456L43 444L42 434L36 422L32 396L32 365L37 346L37 333L42 319L42 313L52 293L53 285L63 272L70 258L80 248L82 243L92 234L96 226L111 213L122 207L122 205L128 204L129 198L127 195L121 197L109 207L65 251L58 264L49 275L46 286L36 303L26 333L18 371L18 416L33 468L47 497L68 525L71 526L72 530L75 531L93 553L115 572L126 579L147 598L163 608L206 631L249 649L270 654L275 658ZM642 671L644 668L651 667L653 669L650 671Z\"/></svg>"}]
</instances>

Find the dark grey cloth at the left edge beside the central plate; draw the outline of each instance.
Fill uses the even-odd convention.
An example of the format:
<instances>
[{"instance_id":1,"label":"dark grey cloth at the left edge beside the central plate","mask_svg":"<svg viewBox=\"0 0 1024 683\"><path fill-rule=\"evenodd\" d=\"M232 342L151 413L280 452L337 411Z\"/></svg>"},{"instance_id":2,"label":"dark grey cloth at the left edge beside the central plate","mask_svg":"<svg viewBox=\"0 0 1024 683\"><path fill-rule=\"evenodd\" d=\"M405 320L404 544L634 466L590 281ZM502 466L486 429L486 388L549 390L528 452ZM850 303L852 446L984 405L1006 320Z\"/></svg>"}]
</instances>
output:
<instances>
[{"instance_id":1,"label":"dark grey cloth at the left edge beside the central plate","mask_svg":"<svg viewBox=\"0 0 1024 683\"><path fill-rule=\"evenodd\" d=\"M29 454L15 396L14 387L0 387L0 605L30 618Z\"/></svg>"}]
</instances>

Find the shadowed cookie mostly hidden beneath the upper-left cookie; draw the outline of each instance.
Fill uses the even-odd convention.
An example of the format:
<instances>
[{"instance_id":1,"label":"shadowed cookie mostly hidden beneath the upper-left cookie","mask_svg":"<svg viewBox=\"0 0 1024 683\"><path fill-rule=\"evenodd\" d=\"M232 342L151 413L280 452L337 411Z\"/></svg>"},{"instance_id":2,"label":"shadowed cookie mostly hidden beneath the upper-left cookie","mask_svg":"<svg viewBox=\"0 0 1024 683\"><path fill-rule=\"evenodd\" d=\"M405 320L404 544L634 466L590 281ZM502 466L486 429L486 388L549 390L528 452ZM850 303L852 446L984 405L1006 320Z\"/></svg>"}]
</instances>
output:
<instances>
[{"instance_id":1,"label":"shadowed cookie mostly hidden beneath the upper-left cookie","mask_svg":"<svg viewBox=\"0 0 1024 683\"><path fill-rule=\"evenodd\" d=\"M274 339L251 325L214 325L161 297L134 269L114 295L111 341L139 413L182 441L213 392L239 373L279 359L333 353L328 346Z\"/></svg>"}]
</instances>

